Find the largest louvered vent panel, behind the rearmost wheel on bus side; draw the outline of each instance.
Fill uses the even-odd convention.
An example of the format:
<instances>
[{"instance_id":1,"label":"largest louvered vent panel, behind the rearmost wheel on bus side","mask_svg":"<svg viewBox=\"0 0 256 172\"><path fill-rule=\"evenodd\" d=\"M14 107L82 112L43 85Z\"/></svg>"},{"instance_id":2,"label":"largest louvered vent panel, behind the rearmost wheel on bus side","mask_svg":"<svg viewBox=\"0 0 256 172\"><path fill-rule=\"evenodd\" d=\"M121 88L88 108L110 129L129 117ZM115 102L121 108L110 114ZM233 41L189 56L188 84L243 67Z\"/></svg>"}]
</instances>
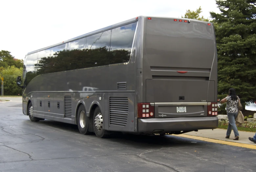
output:
<instances>
[{"instance_id":1,"label":"largest louvered vent panel, behind the rearmost wheel on bus side","mask_svg":"<svg viewBox=\"0 0 256 172\"><path fill-rule=\"evenodd\" d=\"M109 111L110 124L125 126L128 117L128 98L110 97Z\"/></svg>"}]
</instances>

